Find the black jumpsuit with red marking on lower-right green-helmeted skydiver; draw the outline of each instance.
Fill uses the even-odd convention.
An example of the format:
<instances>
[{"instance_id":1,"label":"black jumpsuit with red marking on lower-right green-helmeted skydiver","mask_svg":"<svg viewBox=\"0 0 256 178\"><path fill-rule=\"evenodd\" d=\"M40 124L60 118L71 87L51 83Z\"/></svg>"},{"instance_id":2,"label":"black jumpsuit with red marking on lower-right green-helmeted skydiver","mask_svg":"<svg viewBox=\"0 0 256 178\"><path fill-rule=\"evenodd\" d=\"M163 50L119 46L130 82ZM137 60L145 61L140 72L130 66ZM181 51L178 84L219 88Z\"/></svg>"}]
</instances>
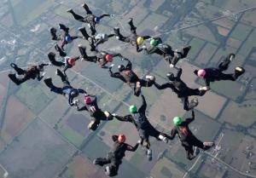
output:
<instances>
[{"instance_id":1,"label":"black jumpsuit with red marking on lower-right green-helmeted skydiver","mask_svg":"<svg viewBox=\"0 0 256 178\"><path fill-rule=\"evenodd\" d=\"M187 158L189 160L195 158L193 146L197 146L203 150L207 150L209 147L204 146L203 142L198 140L195 135L189 129L189 123L195 120L195 113L192 111L192 117L186 118L180 125L175 126L172 131L169 139L173 139L175 135L178 135L182 146L185 148L187 152Z\"/></svg>"}]
</instances>

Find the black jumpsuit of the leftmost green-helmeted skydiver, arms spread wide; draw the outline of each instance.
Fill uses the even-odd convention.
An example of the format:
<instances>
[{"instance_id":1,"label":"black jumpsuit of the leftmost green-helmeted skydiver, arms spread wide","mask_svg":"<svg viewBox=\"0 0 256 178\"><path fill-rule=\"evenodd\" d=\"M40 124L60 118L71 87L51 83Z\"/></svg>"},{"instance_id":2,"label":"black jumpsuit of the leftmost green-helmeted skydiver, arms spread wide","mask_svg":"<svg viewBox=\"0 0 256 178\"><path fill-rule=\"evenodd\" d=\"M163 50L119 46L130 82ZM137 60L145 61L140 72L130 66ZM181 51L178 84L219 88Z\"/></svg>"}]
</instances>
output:
<instances>
[{"instance_id":1,"label":"black jumpsuit of the leftmost green-helmeted skydiver, arms spread wide","mask_svg":"<svg viewBox=\"0 0 256 178\"><path fill-rule=\"evenodd\" d=\"M160 140L159 136L160 135L165 136L166 134L160 133L160 131L158 131L157 129L154 129L153 125L149 123L145 113L147 109L147 103L143 95L142 95L142 100L143 100L143 104L138 109L137 112L126 115L125 117L115 116L115 118L117 118L119 121L133 123L137 128L140 138L143 140L143 142L145 142L143 146L146 146L146 148L149 149L150 147L149 136L153 136L157 140Z\"/></svg>"}]
</instances>

